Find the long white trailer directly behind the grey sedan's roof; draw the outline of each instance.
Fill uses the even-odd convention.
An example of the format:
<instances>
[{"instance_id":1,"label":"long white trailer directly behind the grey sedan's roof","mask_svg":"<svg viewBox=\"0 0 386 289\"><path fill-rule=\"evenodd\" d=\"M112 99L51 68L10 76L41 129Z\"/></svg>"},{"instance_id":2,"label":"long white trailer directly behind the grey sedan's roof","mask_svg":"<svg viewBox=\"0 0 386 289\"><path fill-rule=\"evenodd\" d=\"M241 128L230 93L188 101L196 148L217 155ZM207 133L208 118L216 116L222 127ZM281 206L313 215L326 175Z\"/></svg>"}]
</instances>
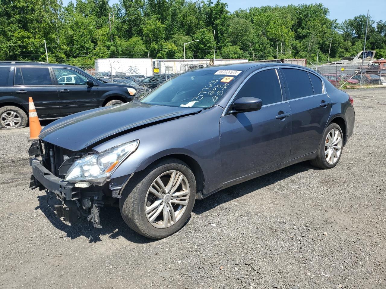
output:
<instances>
[{"instance_id":1,"label":"long white trailer directly behind the grey sedan's roof","mask_svg":"<svg viewBox=\"0 0 386 289\"><path fill-rule=\"evenodd\" d=\"M153 59L153 67L159 73L181 73L191 69L213 65L245 63L248 59Z\"/></svg>"}]
</instances>

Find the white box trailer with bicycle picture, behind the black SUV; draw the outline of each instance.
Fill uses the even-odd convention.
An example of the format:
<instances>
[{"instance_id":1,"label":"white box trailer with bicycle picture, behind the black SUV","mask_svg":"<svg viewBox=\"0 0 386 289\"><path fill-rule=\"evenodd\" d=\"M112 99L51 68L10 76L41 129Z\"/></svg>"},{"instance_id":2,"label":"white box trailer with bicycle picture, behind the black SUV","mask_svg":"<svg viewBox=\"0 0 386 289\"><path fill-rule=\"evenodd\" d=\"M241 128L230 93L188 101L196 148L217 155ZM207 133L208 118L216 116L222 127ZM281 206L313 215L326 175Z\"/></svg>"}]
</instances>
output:
<instances>
[{"instance_id":1,"label":"white box trailer with bicycle picture, behind the black SUV","mask_svg":"<svg viewBox=\"0 0 386 289\"><path fill-rule=\"evenodd\" d=\"M151 58L99 58L95 60L95 72L152 76L153 64Z\"/></svg>"}]
</instances>

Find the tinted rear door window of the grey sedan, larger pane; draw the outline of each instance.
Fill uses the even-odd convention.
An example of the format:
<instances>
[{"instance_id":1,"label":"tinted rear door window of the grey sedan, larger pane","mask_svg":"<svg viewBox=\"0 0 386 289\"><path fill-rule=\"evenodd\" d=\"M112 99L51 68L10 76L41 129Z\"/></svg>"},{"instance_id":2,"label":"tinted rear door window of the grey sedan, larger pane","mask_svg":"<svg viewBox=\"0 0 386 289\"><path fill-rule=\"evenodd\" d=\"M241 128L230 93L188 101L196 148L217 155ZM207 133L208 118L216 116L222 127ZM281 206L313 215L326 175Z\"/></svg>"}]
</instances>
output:
<instances>
[{"instance_id":1,"label":"tinted rear door window of the grey sedan, larger pane","mask_svg":"<svg viewBox=\"0 0 386 289\"><path fill-rule=\"evenodd\" d=\"M288 84L289 99L314 94L308 72L293 68L283 68L282 71Z\"/></svg>"}]
</instances>

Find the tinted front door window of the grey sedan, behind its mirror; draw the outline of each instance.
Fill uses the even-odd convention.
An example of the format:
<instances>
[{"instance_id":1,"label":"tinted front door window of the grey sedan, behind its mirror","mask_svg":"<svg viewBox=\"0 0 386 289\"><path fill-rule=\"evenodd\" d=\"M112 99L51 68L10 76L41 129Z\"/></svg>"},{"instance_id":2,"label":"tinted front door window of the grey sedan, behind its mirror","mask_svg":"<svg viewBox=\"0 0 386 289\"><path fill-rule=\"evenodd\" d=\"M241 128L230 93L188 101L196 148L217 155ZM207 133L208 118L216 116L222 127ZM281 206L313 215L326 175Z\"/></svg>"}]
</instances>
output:
<instances>
[{"instance_id":1,"label":"tinted front door window of the grey sedan, behind its mirror","mask_svg":"<svg viewBox=\"0 0 386 289\"><path fill-rule=\"evenodd\" d=\"M236 99L243 96L260 98L262 105L283 101L276 69L257 72L244 83Z\"/></svg>"}]
</instances>

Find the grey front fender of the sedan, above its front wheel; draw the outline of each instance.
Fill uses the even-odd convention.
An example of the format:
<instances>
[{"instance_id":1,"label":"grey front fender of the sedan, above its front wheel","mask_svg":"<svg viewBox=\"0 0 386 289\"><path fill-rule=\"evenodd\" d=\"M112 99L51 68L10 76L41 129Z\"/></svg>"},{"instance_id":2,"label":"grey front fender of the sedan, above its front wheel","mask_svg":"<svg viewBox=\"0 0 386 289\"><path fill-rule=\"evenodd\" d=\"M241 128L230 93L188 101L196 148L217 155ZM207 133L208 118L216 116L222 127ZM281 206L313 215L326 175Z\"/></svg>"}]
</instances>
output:
<instances>
[{"instance_id":1,"label":"grey front fender of the sedan, above its front wheel","mask_svg":"<svg viewBox=\"0 0 386 289\"><path fill-rule=\"evenodd\" d=\"M214 106L198 114L152 124L106 141L93 149L103 151L139 139L137 150L117 167L111 178L144 170L164 156L189 156L200 166L205 176L206 190L210 192L218 187L222 175L219 136L222 111L219 106Z\"/></svg>"}]
</instances>

